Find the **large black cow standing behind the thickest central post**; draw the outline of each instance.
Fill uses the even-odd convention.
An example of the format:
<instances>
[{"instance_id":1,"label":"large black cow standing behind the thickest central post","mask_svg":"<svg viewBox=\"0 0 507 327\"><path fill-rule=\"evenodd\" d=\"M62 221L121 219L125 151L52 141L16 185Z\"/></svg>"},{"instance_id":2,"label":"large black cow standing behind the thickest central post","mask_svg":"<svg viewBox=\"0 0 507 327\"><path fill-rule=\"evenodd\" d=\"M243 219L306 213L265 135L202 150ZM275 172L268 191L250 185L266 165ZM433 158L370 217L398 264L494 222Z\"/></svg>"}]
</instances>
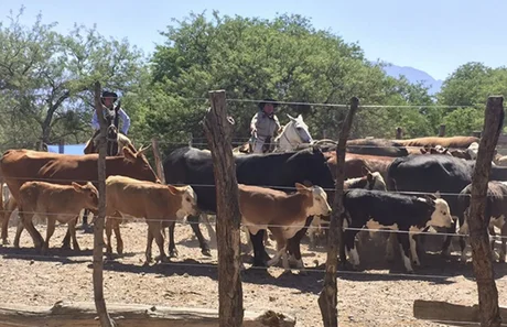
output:
<instances>
[{"instance_id":1,"label":"large black cow standing behind the thickest central post","mask_svg":"<svg viewBox=\"0 0 507 327\"><path fill-rule=\"evenodd\" d=\"M316 148L283 153L237 154L235 155L235 163L236 177L238 183L241 184L268 186L283 192L291 192L298 182L334 189L334 181L327 167L326 159L321 150ZM211 152L190 146L176 149L165 159L163 166L168 184L192 185L197 194L199 209L208 214L216 212L216 189L214 187L215 179ZM328 198L332 200L333 196ZM205 251L208 246L198 228L198 217L188 217L187 220L191 221L192 228L199 239L201 248ZM289 241L289 252L294 254L296 260L301 260L299 241L304 236L310 222L311 219L308 219L306 227ZM250 233L254 246L254 265L265 266L269 260L262 243L263 236L263 230L255 236ZM169 251L173 255L176 253L174 224L170 226Z\"/></svg>"}]
</instances>

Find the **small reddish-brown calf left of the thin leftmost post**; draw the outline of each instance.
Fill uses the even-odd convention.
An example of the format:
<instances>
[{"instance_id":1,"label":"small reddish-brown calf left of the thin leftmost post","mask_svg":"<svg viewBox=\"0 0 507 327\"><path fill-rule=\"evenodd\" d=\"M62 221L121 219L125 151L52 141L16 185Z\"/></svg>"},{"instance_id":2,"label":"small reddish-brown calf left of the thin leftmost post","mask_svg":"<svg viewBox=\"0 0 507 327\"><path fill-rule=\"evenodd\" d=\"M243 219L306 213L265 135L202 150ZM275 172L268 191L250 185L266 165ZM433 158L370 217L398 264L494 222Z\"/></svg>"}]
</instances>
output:
<instances>
[{"instance_id":1,"label":"small reddish-brown calf left of the thin leftmost post","mask_svg":"<svg viewBox=\"0 0 507 327\"><path fill-rule=\"evenodd\" d=\"M55 222L68 224L68 230L73 240L74 250L79 246L76 239L76 218L83 208L97 212L98 190L88 182L82 186L75 182L72 185L60 185L47 182L26 182L19 189L19 215L20 224L14 238L14 247L20 246L20 236L23 228L30 232L35 248L42 247L45 253L50 248L50 238L55 230ZM34 215L47 218L46 240L33 226Z\"/></svg>"}]
</instances>

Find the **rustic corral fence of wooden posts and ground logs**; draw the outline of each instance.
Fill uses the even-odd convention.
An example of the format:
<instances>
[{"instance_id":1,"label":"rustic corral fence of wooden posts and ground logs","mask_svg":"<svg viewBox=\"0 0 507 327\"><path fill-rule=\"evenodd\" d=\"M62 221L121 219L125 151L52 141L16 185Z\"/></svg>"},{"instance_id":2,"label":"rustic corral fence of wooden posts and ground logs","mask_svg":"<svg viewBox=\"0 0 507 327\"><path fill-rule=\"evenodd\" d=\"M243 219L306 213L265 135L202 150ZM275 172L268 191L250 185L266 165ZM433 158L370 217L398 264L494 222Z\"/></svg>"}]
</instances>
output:
<instances>
[{"instance_id":1,"label":"rustic corral fence of wooden posts and ground logs","mask_svg":"<svg viewBox=\"0 0 507 327\"><path fill-rule=\"evenodd\" d=\"M100 113L99 100L100 85L96 85L96 110ZM101 148L99 154L99 186L100 206L96 220L94 241L94 294L95 308L89 304L56 304L52 308L34 310L24 306L7 306L0 308L0 319L11 324L37 324L40 321L58 323L58 326L74 326L79 316L80 324L91 325L99 315L101 326L294 326L295 319L287 314L274 310L255 314L244 310L242 286L239 255L239 227L240 214L238 203L238 183L235 174L235 164L231 152L231 128L227 119L226 96L224 90L209 92L211 108L204 117L204 129L207 143L212 152L215 166L215 185L217 195L217 248L218 248L218 297L219 308L208 309L181 309L181 308L150 308L147 306L107 306L103 293L103 228L105 215L105 153ZM359 99L352 98L342 131L337 135L336 156L336 188L333 201L333 214L328 233L327 260L325 277L319 305L324 326L338 326L337 312L337 283L336 273L339 263L346 261L343 246L343 194L345 143L355 112L360 108ZM476 159L476 166L472 182L472 199L470 214L470 240L472 246L474 274L478 288L478 305L464 307L442 302L414 302L414 315L422 319L435 321L453 321L462 326L481 323L481 326L500 326L501 319L507 320L507 308L498 305L492 253L487 236L487 226L484 224L484 208L486 203L486 188L489 168L496 146L507 146L507 135L500 135L498 127L504 122L503 97L489 97L486 103L484 129L481 132L481 144ZM98 117L103 117L98 115ZM101 126L103 143L105 144L105 126ZM402 129L397 129L397 138L402 138ZM442 126L439 135L445 134ZM477 135L477 134L475 134ZM61 144L63 151L63 142ZM153 142L155 168L159 178L163 181L158 143ZM339 257L339 262L338 262ZM118 317L121 316L120 319ZM192 324L191 324L192 321Z\"/></svg>"}]
</instances>

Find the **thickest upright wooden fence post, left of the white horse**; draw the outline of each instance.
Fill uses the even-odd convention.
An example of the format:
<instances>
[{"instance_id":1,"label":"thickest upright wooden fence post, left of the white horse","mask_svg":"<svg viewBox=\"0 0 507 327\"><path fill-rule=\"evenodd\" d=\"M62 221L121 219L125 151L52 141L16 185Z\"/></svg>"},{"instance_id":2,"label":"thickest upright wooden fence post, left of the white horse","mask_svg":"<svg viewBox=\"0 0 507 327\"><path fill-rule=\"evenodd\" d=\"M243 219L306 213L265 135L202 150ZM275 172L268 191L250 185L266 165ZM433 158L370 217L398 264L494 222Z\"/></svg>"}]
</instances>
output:
<instances>
[{"instance_id":1,"label":"thickest upright wooden fence post, left of the white horse","mask_svg":"<svg viewBox=\"0 0 507 327\"><path fill-rule=\"evenodd\" d=\"M225 90L209 92L211 108L204 131L212 151L216 185L218 249L218 316L220 327L242 325L242 287L239 271L239 192L233 156L231 122L227 119Z\"/></svg>"}]
</instances>

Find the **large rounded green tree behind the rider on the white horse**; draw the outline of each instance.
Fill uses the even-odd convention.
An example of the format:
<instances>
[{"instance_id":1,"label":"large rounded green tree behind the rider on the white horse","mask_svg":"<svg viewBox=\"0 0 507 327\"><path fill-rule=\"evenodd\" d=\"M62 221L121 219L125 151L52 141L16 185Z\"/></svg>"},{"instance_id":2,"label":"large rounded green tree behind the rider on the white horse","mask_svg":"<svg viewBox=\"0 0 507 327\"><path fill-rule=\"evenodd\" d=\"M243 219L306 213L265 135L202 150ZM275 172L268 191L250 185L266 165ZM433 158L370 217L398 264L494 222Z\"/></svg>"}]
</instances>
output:
<instances>
[{"instance_id":1,"label":"large rounded green tree behind the rider on the white horse","mask_svg":"<svg viewBox=\"0 0 507 327\"><path fill-rule=\"evenodd\" d=\"M203 137L198 122L211 89L225 89L228 99L242 100L228 101L236 120L235 138L242 140L249 137L248 124L257 110L251 101L266 97L312 103L348 103L352 96L374 105L431 102L421 85L388 77L382 64L367 61L357 44L315 30L301 15L262 20L220 17L215 11L207 20L192 13L162 34L166 41L157 46L152 58L152 100L145 119L150 132L170 135L173 141L186 140L188 131ZM282 105L279 118L285 123L285 113L302 113L315 138L322 138L324 131L335 138L345 112L333 107ZM362 110L353 135L392 134L389 115L389 110ZM413 126L427 123L425 118L418 119ZM378 121L387 126L379 127Z\"/></svg>"}]
</instances>

